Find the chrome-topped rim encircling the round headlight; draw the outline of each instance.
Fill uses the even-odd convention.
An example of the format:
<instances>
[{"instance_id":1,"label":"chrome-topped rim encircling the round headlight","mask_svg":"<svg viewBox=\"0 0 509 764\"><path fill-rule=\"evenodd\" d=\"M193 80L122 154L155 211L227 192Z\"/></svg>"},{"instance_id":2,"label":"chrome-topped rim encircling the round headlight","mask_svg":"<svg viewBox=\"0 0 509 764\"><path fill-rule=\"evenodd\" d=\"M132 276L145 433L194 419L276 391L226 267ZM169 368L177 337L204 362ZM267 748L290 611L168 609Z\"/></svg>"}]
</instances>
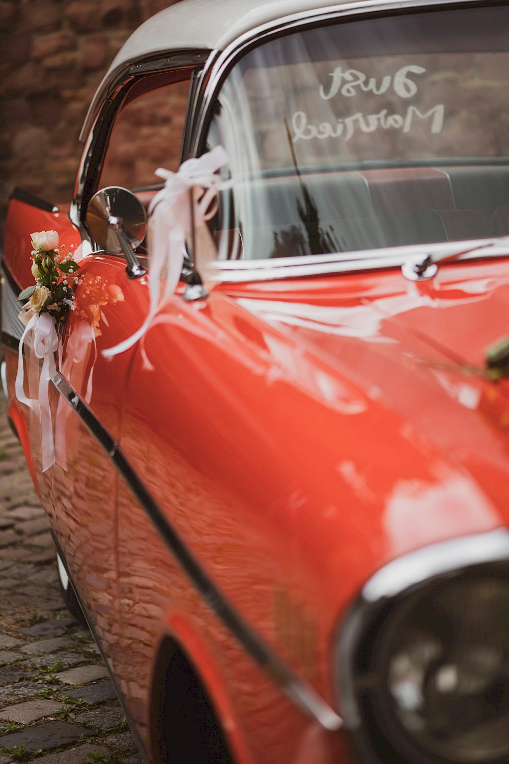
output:
<instances>
[{"instance_id":1,"label":"chrome-topped rim encircling the round headlight","mask_svg":"<svg viewBox=\"0 0 509 764\"><path fill-rule=\"evenodd\" d=\"M452 591L451 587L458 585L458 582L484 581L487 577L494 582L507 581L509 597L507 529L430 545L384 566L365 584L340 630L336 662L336 686L339 688L339 705L345 719L345 729L351 731L361 760L391 760L397 764L509 761L509 748L507 751L504 749L503 756L462 759L451 757L451 749L446 755L439 749L423 747L419 736L408 733L396 714L387 714L387 707L391 707L394 701L394 693L391 697L387 679L387 639L392 624L404 623L402 618L405 612L415 612L420 604L442 596L436 593L448 585L447 591ZM505 588L503 591L505 597ZM394 644L397 643L394 642L394 635L391 639ZM384 660L387 662L385 666Z\"/></svg>"}]
</instances>

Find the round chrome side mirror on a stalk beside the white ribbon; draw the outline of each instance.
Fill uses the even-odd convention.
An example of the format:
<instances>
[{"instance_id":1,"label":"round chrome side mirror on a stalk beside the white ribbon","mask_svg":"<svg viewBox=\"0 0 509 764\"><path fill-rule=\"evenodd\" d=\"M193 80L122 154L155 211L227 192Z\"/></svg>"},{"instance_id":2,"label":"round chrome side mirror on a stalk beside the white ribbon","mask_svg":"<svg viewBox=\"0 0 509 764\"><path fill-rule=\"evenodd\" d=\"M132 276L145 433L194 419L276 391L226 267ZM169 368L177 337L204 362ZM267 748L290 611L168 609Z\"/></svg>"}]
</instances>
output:
<instances>
[{"instance_id":1,"label":"round chrome side mirror on a stalk beside the white ribbon","mask_svg":"<svg viewBox=\"0 0 509 764\"><path fill-rule=\"evenodd\" d=\"M147 215L140 200L128 189L109 186L92 196L86 208L86 225L99 247L123 254L131 279L146 273L134 250L147 232Z\"/></svg>"}]
</instances>

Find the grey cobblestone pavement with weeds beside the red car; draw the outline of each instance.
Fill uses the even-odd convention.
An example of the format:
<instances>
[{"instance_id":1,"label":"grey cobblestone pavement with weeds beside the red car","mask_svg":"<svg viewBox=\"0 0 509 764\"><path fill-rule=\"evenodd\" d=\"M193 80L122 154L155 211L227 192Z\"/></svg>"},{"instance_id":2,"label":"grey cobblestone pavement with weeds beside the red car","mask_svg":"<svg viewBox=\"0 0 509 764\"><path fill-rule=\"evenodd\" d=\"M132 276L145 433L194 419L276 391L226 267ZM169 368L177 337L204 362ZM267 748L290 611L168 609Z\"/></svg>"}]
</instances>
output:
<instances>
[{"instance_id":1,"label":"grey cobblestone pavement with weeds beside the red car","mask_svg":"<svg viewBox=\"0 0 509 764\"><path fill-rule=\"evenodd\" d=\"M63 608L5 408L0 392L0 764L141 764L92 636Z\"/></svg>"}]
</instances>

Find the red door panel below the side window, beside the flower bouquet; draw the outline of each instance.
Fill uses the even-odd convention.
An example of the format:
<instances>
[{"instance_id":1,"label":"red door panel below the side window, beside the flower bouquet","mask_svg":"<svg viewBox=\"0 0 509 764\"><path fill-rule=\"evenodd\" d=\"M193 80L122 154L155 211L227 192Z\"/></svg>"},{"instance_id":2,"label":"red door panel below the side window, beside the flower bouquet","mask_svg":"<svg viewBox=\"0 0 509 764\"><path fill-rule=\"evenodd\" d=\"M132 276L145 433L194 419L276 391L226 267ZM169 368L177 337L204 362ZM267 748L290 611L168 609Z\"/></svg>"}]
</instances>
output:
<instances>
[{"instance_id":1,"label":"red door panel below the side window, beside the flower bouquet","mask_svg":"<svg viewBox=\"0 0 509 764\"><path fill-rule=\"evenodd\" d=\"M50 470L51 485L57 542L105 657L115 662L118 473L105 438L119 437L130 354L107 361L101 351L126 329L137 328L141 285L128 279L124 261L107 255L86 258L78 274L59 361L61 386L79 397L86 417L63 396L55 401L60 464Z\"/></svg>"}]
</instances>

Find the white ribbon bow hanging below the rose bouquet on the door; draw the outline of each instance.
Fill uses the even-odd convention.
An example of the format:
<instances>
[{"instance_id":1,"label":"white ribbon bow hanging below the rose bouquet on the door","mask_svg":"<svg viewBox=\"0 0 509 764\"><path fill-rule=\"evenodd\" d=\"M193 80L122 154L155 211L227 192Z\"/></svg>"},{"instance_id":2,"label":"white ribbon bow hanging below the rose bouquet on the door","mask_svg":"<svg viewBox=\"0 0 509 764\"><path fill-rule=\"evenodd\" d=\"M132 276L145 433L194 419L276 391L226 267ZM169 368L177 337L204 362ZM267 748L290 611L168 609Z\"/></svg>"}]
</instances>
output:
<instances>
[{"instance_id":1,"label":"white ribbon bow hanging below the rose bouquet on the door","mask_svg":"<svg viewBox=\"0 0 509 764\"><path fill-rule=\"evenodd\" d=\"M33 332L33 348L37 358L42 358L42 369L39 376L38 400L28 398L24 393L24 364L23 347L28 347L28 333ZM31 409L41 422L41 459L42 471L55 463L55 442L53 436L53 420L51 418L50 397L48 388L50 378L56 371L55 352L58 348L58 335L52 316L49 313L34 315L26 325L18 349L18 371L15 380L15 393L18 401Z\"/></svg>"}]
</instances>

